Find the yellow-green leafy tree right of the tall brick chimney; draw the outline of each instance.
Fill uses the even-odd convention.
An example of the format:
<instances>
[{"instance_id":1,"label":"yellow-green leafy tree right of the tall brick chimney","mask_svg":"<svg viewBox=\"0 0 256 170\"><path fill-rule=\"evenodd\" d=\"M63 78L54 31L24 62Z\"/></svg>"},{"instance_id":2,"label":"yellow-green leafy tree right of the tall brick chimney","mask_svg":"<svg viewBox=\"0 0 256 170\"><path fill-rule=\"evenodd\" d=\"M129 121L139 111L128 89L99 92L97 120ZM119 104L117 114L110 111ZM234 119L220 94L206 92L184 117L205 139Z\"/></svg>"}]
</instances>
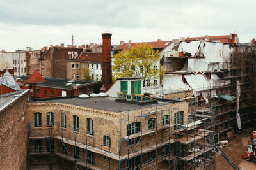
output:
<instances>
[{"instance_id":1,"label":"yellow-green leafy tree right of the tall brick chimney","mask_svg":"<svg viewBox=\"0 0 256 170\"><path fill-rule=\"evenodd\" d=\"M114 58L112 69L115 79L143 77L145 86L145 82L150 78L159 78L165 73L164 66L159 64L162 58L159 50L155 51L153 46L147 44L119 52Z\"/></svg>"}]
</instances>

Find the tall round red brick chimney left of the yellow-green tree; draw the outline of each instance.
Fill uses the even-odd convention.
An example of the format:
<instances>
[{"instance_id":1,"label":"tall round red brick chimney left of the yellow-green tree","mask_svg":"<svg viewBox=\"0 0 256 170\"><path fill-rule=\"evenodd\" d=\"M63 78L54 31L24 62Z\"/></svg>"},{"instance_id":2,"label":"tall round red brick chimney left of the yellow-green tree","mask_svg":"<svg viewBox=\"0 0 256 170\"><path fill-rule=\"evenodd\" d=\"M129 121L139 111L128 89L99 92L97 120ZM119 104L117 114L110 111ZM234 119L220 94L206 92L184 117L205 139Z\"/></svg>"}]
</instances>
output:
<instances>
[{"instance_id":1,"label":"tall round red brick chimney left of the yellow-green tree","mask_svg":"<svg viewBox=\"0 0 256 170\"><path fill-rule=\"evenodd\" d=\"M104 33L102 35L102 87L101 92L106 92L112 85L112 66L111 66L111 36Z\"/></svg>"}]
</instances>

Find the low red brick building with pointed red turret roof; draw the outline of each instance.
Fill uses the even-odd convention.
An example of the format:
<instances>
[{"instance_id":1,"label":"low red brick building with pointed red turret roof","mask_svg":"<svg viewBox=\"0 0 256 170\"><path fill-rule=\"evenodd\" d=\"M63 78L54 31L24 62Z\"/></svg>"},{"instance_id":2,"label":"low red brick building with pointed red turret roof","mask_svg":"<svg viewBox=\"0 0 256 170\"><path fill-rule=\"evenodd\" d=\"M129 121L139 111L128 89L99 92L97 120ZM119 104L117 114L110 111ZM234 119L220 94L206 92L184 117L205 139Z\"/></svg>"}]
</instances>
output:
<instances>
[{"instance_id":1,"label":"low red brick building with pointed red turret roof","mask_svg":"<svg viewBox=\"0 0 256 170\"><path fill-rule=\"evenodd\" d=\"M70 80L65 78L42 77L38 71L29 76L20 76L20 87L31 89L32 98L77 96L99 92L100 81Z\"/></svg>"}]
</instances>

